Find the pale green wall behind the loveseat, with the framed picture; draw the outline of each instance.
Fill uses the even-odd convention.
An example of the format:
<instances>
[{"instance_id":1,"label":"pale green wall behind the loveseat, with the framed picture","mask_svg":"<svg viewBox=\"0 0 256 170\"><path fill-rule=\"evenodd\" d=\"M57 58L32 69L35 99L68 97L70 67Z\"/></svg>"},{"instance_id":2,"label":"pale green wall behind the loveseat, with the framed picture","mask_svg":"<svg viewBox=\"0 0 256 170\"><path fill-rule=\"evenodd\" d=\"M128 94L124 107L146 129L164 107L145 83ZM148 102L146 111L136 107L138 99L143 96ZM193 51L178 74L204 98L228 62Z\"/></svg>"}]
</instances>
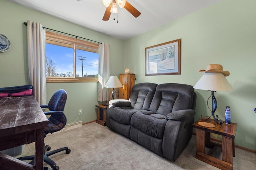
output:
<instances>
[{"instance_id":1,"label":"pale green wall behind the loveseat, with the framed picture","mask_svg":"<svg viewBox=\"0 0 256 170\"><path fill-rule=\"evenodd\" d=\"M125 41L124 68L136 74L137 83L184 83L194 86L208 64L222 64L232 92L215 93L216 115L224 120L230 106L238 123L235 144L256 150L256 1L223 0L164 26ZM145 76L145 47L181 39L181 74ZM134 62L136 61L136 62ZM210 92L196 90L195 120L210 115ZM211 108L211 101L209 102ZM215 136L216 137L216 136ZM221 139L219 136L216 138Z\"/></svg>"}]
</instances>

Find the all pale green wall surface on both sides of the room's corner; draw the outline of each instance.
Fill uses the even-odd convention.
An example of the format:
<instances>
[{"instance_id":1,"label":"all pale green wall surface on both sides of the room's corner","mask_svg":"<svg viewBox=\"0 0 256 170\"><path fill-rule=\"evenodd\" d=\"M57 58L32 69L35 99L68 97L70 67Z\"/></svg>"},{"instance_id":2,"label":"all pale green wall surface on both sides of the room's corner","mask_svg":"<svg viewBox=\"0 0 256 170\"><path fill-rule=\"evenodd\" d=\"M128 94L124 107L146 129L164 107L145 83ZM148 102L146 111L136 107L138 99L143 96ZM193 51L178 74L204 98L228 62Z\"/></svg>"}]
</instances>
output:
<instances>
[{"instance_id":1,"label":"all pale green wall surface on both sides of the room's corner","mask_svg":"<svg viewBox=\"0 0 256 170\"><path fill-rule=\"evenodd\" d=\"M136 74L136 82L183 83L194 86L208 64L222 64L230 71L226 77L232 92L217 92L216 115L224 120L225 106L232 111L232 122L238 123L235 144L256 150L256 1L223 0L166 25L121 41L69 23L47 14L30 10L7 0L1 0L0 33L12 42L12 47L0 53L0 87L27 83L26 26L32 20L45 27L110 44L110 75L123 73L128 67ZM181 39L181 74L145 76L145 47ZM125 47L125 48L124 48ZM123 57L120 57L123 56ZM120 64L124 63L124 64ZM97 83L47 83L48 100L59 88L68 92L65 113L68 123L96 119ZM196 117L210 115L206 100L210 92L196 90ZM209 103L211 107L211 103ZM220 139L219 136L213 136Z\"/></svg>"}]
</instances>

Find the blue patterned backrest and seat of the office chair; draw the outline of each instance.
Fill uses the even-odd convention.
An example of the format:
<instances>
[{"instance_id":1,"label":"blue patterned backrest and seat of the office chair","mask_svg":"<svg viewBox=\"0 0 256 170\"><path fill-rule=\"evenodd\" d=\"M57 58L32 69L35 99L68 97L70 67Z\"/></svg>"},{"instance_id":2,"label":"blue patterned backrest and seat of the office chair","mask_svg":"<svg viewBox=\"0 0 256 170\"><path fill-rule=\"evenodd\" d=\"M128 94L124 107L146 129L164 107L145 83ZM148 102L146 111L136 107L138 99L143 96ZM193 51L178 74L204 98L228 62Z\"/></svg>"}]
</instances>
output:
<instances>
[{"instance_id":1,"label":"blue patterned backrest and seat of the office chair","mask_svg":"<svg viewBox=\"0 0 256 170\"><path fill-rule=\"evenodd\" d=\"M53 133L56 131L60 131L63 127L65 127L67 123L67 118L64 115L64 108L67 100L67 92L63 89L56 91L49 103L48 109L50 111L62 111L62 113L52 113L49 119L48 127L44 129L44 133Z\"/></svg>"}]
</instances>

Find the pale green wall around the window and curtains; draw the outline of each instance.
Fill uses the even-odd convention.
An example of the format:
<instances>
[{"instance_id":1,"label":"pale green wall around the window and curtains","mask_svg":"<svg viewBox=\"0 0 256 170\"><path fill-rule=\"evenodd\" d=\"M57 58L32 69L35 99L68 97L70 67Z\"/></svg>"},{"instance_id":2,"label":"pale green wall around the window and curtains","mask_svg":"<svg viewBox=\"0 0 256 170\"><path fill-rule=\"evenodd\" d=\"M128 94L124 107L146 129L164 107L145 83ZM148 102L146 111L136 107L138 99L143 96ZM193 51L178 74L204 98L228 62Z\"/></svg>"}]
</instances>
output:
<instances>
[{"instance_id":1,"label":"pale green wall around the window and curtains","mask_svg":"<svg viewBox=\"0 0 256 170\"><path fill-rule=\"evenodd\" d=\"M108 35L86 29L68 21L60 20L42 12L31 10L8 0L0 1L0 34L6 35L11 41L11 48L0 53L0 87L19 86L27 84L27 32L23 22L28 20L42 23L44 27L70 33L110 45L110 75L117 75L123 71L120 63L124 59L123 41ZM115 47L115 48L114 48ZM68 93L65 114L68 124L74 121L83 123L97 118L98 83L47 83L47 101L52 94L63 88ZM78 118L78 109L82 115Z\"/></svg>"}]
</instances>

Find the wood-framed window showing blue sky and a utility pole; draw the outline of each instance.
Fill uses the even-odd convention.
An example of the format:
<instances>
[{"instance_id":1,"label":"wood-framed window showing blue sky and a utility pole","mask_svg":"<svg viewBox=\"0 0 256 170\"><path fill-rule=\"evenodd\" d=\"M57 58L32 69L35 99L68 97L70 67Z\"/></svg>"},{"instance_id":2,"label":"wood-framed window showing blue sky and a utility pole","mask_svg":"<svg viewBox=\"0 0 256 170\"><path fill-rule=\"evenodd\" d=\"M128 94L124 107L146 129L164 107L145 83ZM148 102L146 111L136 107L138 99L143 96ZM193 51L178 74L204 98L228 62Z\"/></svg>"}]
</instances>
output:
<instances>
[{"instance_id":1,"label":"wood-framed window showing blue sky and a utility pole","mask_svg":"<svg viewBox=\"0 0 256 170\"><path fill-rule=\"evenodd\" d=\"M46 82L98 82L98 44L46 31Z\"/></svg>"}]
</instances>

